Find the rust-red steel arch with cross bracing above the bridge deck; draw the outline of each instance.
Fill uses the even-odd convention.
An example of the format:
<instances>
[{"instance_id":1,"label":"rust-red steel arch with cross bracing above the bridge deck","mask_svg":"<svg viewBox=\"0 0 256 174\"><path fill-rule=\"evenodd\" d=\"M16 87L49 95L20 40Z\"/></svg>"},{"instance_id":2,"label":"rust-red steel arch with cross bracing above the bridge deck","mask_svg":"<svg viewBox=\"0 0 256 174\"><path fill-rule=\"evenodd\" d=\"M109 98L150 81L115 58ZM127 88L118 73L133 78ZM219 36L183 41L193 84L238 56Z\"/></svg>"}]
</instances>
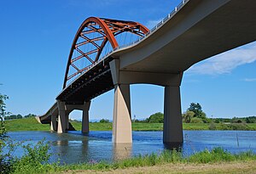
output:
<instances>
[{"instance_id":1,"label":"rust-red steel arch with cross bracing above the bridge deck","mask_svg":"<svg viewBox=\"0 0 256 174\"><path fill-rule=\"evenodd\" d=\"M133 21L110 20L97 17L90 17L84 20L73 39L72 48L67 60L67 69L63 88L67 86L67 81L72 79L74 76L79 75L79 73L82 73L84 70L87 70L90 65L94 64L100 58L102 50L107 42L110 42L112 48L118 48L119 43L117 42L115 36L118 36L123 32L131 32L137 36L144 36L146 33L148 33L148 31L149 30L146 26ZM91 35L91 33L97 33L100 36L90 38L88 35ZM82 38L84 41L78 42L79 38ZM93 46L93 48L90 48L90 50L87 50L84 53L81 49L79 49L79 47L89 43ZM73 58L74 51L77 51L79 56ZM90 58L90 55L92 54L95 55L94 59ZM74 62L84 58L90 61L90 65L87 65L82 69L79 69L76 65L74 65ZM75 69L75 72L68 76L71 66Z\"/></svg>"}]
</instances>

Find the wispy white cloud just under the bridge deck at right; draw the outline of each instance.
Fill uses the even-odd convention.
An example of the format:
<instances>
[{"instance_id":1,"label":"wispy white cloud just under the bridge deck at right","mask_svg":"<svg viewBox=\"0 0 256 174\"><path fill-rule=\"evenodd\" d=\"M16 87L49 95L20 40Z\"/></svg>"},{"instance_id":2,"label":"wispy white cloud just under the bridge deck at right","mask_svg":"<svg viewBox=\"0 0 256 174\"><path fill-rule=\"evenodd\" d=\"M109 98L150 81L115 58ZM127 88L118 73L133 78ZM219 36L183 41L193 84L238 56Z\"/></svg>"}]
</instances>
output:
<instances>
[{"instance_id":1,"label":"wispy white cloud just under the bridge deck at right","mask_svg":"<svg viewBox=\"0 0 256 174\"><path fill-rule=\"evenodd\" d=\"M254 61L256 61L256 42L201 61L189 68L188 73L205 75L230 73L237 66L250 64Z\"/></svg>"}]
</instances>

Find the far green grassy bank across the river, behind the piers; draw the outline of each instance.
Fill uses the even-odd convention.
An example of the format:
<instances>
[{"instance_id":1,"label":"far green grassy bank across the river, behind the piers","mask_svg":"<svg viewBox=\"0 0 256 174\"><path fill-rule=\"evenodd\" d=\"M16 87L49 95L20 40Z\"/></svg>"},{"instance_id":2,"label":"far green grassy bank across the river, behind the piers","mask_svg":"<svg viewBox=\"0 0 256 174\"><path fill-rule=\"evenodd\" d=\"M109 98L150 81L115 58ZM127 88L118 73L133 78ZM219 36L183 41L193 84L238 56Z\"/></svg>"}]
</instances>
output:
<instances>
[{"instance_id":1,"label":"far green grassy bank across the river, behind the piers","mask_svg":"<svg viewBox=\"0 0 256 174\"><path fill-rule=\"evenodd\" d=\"M76 130L81 130L81 122L71 121ZM252 130L256 131L256 123L225 125L222 123L214 124L216 130ZM184 130L209 130L209 123L183 123ZM6 121L6 129L9 132L15 131L49 131L49 125L39 124L34 118L16 119ZM112 123L90 123L90 131L111 131ZM133 131L162 131L162 123L132 123Z\"/></svg>"}]
</instances>

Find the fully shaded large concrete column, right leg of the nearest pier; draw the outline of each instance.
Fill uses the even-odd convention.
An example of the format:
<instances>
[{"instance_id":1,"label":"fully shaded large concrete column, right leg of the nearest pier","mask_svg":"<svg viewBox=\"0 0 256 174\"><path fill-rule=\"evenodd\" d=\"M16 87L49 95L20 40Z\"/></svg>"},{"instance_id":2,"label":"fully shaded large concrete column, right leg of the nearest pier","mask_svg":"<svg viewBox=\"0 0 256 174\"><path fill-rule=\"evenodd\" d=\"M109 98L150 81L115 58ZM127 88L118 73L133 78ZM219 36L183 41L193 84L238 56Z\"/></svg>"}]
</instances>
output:
<instances>
[{"instance_id":1,"label":"fully shaded large concrete column, right leg of the nearest pier","mask_svg":"<svg viewBox=\"0 0 256 174\"><path fill-rule=\"evenodd\" d=\"M165 87L164 107L164 143L171 145L183 143L183 124L179 86Z\"/></svg>"}]
</instances>

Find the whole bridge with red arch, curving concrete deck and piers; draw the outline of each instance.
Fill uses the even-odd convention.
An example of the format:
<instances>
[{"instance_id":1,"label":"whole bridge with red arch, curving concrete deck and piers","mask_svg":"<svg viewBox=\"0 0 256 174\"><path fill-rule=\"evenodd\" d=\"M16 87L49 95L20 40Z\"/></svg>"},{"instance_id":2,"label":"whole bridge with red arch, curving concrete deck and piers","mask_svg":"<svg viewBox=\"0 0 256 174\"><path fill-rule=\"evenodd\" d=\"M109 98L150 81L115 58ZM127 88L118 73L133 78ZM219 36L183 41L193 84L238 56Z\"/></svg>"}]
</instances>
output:
<instances>
[{"instance_id":1,"label":"whole bridge with red arch, curving concrete deck and piers","mask_svg":"<svg viewBox=\"0 0 256 174\"><path fill-rule=\"evenodd\" d=\"M154 84L165 87L163 141L182 143L183 72L255 41L255 17L254 0L185 0L150 31L133 21L90 17L73 40L63 90L38 121L66 132L69 113L80 109L82 132L89 132L91 99L114 89L113 143L131 143L130 85ZM125 33L137 40L122 45Z\"/></svg>"}]
</instances>

